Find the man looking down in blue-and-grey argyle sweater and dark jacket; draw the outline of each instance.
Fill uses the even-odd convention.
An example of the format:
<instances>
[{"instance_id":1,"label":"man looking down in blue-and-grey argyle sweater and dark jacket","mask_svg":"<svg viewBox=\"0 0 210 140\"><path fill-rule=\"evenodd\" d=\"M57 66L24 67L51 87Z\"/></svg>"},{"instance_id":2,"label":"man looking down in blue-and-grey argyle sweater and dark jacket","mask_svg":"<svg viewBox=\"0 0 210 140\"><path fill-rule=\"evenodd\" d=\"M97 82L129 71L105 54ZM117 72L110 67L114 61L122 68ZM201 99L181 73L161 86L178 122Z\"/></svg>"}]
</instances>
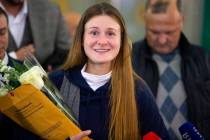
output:
<instances>
[{"instance_id":1,"label":"man looking down in blue-and-grey argyle sweater and dark jacket","mask_svg":"<svg viewBox=\"0 0 210 140\"><path fill-rule=\"evenodd\" d=\"M133 67L152 89L172 140L181 139L185 121L210 139L210 59L182 33L183 19L181 0L148 0Z\"/></svg>"}]
</instances>

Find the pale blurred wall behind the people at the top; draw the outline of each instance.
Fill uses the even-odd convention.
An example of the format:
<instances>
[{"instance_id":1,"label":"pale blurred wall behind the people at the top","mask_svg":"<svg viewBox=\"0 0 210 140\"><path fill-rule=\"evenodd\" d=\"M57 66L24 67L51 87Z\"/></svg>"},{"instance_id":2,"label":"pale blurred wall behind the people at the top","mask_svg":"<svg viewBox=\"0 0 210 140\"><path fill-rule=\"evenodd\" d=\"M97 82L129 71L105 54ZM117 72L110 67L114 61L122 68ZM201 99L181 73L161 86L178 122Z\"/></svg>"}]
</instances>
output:
<instances>
[{"instance_id":1,"label":"pale blurred wall behind the people at the top","mask_svg":"<svg viewBox=\"0 0 210 140\"><path fill-rule=\"evenodd\" d=\"M79 13L95 2L108 1L120 9L128 32L133 41L144 37L143 11L145 0L54 0L64 12L72 10ZM185 15L184 33L195 44L201 44L202 8L204 0L183 0Z\"/></svg>"}]
</instances>

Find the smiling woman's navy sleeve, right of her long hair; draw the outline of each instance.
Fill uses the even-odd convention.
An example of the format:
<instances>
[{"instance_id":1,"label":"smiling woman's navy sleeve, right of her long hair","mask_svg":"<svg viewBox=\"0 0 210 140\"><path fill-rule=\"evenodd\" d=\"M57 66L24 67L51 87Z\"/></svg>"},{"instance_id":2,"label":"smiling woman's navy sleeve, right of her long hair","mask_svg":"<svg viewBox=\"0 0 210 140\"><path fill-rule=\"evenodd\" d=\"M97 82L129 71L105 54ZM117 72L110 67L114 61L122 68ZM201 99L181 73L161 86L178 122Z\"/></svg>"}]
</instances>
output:
<instances>
[{"instance_id":1,"label":"smiling woman's navy sleeve, right of her long hair","mask_svg":"<svg viewBox=\"0 0 210 140\"><path fill-rule=\"evenodd\" d=\"M154 132L163 140L167 140L168 134L159 114L152 91L142 79L137 80L135 84L142 134L146 135L149 132Z\"/></svg>"}]
</instances>

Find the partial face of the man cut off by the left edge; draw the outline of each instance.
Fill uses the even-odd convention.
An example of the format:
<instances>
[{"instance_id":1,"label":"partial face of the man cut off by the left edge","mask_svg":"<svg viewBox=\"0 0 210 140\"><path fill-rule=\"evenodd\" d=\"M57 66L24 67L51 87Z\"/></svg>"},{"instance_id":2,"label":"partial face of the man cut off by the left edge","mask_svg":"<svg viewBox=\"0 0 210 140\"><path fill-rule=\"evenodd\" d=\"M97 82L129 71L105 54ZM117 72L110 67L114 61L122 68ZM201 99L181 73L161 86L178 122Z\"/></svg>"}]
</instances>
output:
<instances>
[{"instance_id":1,"label":"partial face of the man cut off by the left edge","mask_svg":"<svg viewBox=\"0 0 210 140\"><path fill-rule=\"evenodd\" d=\"M8 46L8 25L7 19L0 14L0 59L4 58Z\"/></svg>"}]
</instances>

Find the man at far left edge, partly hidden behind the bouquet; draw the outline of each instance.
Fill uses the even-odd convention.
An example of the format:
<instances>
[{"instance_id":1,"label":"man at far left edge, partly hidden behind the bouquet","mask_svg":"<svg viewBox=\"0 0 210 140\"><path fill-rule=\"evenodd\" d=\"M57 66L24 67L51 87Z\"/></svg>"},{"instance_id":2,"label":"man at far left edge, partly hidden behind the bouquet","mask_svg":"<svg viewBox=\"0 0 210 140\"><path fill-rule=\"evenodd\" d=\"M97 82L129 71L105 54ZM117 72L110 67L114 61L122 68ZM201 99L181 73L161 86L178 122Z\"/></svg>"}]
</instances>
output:
<instances>
[{"instance_id":1,"label":"man at far left edge, partly hidden behind the bouquet","mask_svg":"<svg viewBox=\"0 0 210 140\"><path fill-rule=\"evenodd\" d=\"M8 47L8 18L2 8L0 8L0 59L4 64L12 66L13 60L6 53ZM38 140L32 133L21 128L9 118L0 113L0 139L2 140Z\"/></svg>"}]
</instances>

